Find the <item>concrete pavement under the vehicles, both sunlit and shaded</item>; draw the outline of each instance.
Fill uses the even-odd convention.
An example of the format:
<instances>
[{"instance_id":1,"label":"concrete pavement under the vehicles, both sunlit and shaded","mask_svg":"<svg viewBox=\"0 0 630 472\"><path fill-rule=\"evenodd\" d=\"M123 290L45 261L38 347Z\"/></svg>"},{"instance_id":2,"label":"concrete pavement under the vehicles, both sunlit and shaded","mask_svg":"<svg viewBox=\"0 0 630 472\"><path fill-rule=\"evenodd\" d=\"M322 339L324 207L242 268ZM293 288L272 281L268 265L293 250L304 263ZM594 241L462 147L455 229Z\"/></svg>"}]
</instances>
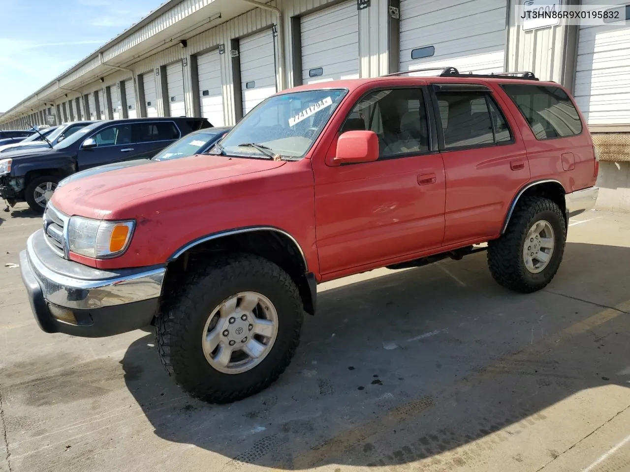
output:
<instances>
[{"instance_id":1,"label":"concrete pavement under the vehicles, both sunlit and shaded","mask_svg":"<svg viewBox=\"0 0 630 472\"><path fill-rule=\"evenodd\" d=\"M0 218L0 471L630 470L630 215L571 220L532 295L483 253L323 284L289 369L222 406L149 332L41 332L5 267L41 220Z\"/></svg>"}]
</instances>

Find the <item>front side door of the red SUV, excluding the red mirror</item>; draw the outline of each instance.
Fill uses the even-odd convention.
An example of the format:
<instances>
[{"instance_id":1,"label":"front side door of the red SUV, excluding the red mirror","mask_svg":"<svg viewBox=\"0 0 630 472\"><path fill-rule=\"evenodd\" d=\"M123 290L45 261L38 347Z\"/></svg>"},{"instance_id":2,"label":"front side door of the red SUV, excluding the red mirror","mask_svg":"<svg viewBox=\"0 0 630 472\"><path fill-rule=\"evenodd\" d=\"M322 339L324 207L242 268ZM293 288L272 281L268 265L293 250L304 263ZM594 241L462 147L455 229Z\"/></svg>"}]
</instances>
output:
<instances>
[{"instance_id":1,"label":"front side door of the red SUV, excluding the red mirror","mask_svg":"<svg viewBox=\"0 0 630 472\"><path fill-rule=\"evenodd\" d=\"M340 134L371 130L374 162L313 162L319 269L324 279L383 265L440 247L444 238L445 174L430 139L424 87L365 94ZM329 152L335 152L335 144ZM433 149L433 150L432 150Z\"/></svg>"}]
</instances>

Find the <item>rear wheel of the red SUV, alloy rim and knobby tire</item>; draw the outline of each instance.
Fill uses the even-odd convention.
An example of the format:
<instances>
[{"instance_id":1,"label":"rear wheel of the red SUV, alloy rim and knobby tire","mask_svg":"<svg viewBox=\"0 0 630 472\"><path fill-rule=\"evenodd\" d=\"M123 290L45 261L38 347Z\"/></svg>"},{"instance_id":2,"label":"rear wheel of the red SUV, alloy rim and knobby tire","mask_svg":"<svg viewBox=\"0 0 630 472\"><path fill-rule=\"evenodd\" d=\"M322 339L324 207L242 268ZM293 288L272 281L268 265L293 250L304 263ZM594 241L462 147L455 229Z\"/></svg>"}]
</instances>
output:
<instances>
[{"instance_id":1,"label":"rear wheel of the red SUV, alloy rim and knobby tire","mask_svg":"<svg viewBox=\"0 0 630 472\"><path fill-rule=\"evenodd\" d=\"M565 242L566 223L559 206L547 198L524 198L507 231L488 243L490 273L514 291L539 290L558 272Z\"/></svg>"}]
</instances>

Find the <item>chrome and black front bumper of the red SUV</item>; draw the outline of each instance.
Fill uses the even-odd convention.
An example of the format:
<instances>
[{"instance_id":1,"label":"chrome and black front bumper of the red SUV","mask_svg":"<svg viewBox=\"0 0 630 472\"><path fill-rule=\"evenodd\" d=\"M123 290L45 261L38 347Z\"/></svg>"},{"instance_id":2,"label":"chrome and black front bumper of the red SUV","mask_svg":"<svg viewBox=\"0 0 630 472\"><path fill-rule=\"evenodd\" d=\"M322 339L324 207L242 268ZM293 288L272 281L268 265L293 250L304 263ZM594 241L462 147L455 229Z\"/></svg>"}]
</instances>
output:
<instances>
[{"instance_id":1,"label":"chrome and black front bumper of the red SUV","mask_svg":"<svg viewBox=\"0 0 630 472\"><path fill-rule=\"evenodd\" d=\"M20 252L22 281L47 333L103 337L142 328L159 306L165 267L103 271L59 257L42 230Z\"/></svg>"}]
</instances>

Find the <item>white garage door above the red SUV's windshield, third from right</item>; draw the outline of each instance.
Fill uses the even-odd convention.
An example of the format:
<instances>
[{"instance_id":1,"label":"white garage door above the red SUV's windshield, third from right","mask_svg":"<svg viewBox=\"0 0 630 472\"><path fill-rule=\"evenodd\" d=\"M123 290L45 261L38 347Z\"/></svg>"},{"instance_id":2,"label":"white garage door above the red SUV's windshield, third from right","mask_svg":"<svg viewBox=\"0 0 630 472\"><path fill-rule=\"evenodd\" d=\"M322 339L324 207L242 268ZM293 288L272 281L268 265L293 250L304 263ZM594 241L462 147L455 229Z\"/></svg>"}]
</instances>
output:
<instances>
[{"instance_id":1,"label":"white garage door above the red SUV's windshield, third from right","mask_svg":"<svg viewBox=\"0 0 630 472\"><path fill-rule=\"evenodd\" d=\"M343 3L301 18L302 82L358 79L358 10Z\"/></svg>"}]
</instances>

